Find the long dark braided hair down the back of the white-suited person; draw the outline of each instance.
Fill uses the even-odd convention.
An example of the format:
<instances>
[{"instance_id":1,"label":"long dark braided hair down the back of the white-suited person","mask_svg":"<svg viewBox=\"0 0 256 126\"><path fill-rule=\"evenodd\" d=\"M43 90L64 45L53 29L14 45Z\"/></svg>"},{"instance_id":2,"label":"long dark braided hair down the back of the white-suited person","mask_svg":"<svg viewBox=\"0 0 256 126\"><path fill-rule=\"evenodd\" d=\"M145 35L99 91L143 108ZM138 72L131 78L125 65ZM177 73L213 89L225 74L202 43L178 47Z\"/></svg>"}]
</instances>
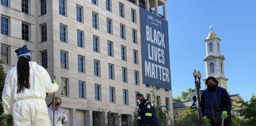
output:
<instances>
[{"instance_id":1,"label":"long dark braided hair down the back of the white-suited person","mask_svg":"<svg viewBox=\"0 0 256 126\"><path fill-rule=\"evenodd\" d=\"M17 93L24 92L25 89L30 89L30 67L28 61L30 61L29 56L19 57L17 63Z\"/></svg>"}]
</instances>

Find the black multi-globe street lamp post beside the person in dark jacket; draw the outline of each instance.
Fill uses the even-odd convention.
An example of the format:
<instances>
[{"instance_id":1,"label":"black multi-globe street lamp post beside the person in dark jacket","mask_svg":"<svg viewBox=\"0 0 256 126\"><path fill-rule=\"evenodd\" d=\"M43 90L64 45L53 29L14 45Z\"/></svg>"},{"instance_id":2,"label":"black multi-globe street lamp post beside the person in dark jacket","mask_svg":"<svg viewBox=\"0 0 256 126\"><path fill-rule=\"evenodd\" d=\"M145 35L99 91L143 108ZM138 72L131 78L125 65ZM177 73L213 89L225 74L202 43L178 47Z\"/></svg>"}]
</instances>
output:
<instances>
[{"instance_id":1,"label":"black multi-globe street lamp post beside the person in dark jacket","mask_svg":"<svg viewBox=\"0 0 256 126\"><path fill-rule=\"evenodd\" d=\"M200 79L202 74L200 71L194 71L193 76L195 77L195 88L197 89L197 101L198 101L198 116L199 116L199 124L202 126L202 115L201 115L201 108L200 108L200 89L201 89L201 82Z\"/></svg>"}]
</instances>

